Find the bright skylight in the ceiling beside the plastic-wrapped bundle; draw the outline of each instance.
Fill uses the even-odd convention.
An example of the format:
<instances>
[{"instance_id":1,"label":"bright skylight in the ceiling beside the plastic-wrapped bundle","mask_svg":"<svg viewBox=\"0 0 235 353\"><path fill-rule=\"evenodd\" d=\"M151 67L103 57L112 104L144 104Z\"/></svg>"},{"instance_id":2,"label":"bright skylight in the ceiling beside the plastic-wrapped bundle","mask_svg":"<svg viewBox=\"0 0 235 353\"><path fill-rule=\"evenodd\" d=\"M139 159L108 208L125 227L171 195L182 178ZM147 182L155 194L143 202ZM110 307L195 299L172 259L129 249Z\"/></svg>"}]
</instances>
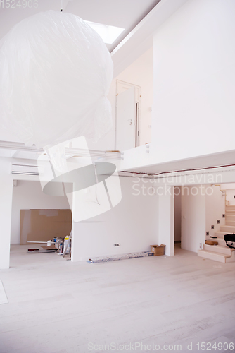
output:
<instances>
[{"instance_id":1,"label":"bright skylight in the ceiling beside the plastic-wrapped bundle","mask_svg":"<svg viewBox=\"0 0 235 353\"><path fill-rule=\"evenodd\" d=\"M114 27L113 25L102 25L101 23L95 23L90 21L84 21L91 26L103 39L106 44L113 44L113 42L120 36L124 31L124 28Z\"/></svg>"}]
</instances>

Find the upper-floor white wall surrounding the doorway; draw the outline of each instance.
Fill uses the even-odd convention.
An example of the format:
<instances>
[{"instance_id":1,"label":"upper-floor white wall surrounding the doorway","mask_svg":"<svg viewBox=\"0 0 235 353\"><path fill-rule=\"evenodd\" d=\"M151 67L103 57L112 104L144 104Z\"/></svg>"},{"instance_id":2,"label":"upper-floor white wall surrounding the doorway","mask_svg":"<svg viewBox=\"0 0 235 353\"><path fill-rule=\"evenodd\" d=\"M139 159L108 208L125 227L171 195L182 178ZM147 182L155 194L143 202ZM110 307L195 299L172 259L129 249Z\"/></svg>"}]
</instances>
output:
<instances>
[{"instance_id":1,"label":"upper-floor white wall surrounding the doorway","mask_svg":"<svg viewBox=\"0 0 235 353\"><path fill-rule=\"evenodd\" d=\"M108 94L112 105L113 128L96 144L88 140L89 148L96 150L114 150L115 148L115 104L116 80L122 80L141 86L141 139L140 144L151 142L151 107L153 105L153 48L148 49L136 61L128 66L120 75L113 79Z\"/></svg>"}]
</instances>

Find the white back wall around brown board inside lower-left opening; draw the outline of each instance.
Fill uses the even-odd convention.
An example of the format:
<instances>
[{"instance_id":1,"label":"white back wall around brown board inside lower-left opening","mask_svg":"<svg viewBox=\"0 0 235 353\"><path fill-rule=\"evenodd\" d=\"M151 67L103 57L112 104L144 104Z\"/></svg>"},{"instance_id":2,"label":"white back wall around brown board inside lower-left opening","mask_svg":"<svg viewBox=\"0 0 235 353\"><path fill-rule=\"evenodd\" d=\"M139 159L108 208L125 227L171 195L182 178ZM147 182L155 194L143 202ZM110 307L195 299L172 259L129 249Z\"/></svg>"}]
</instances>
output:
<instances>
[{"instance_id":1,"label":"white back wall around brown board inside lower-left opening","mask_svg":"<svg viewBox=\"0 0 235 353\"><path fill-rule=\"evenodd\" d=\"M70 208L65 196L49 196L42 192L39 181L18 180L13 187L11 244L20 244L20 210Z\"/></svg>"}]
</instances>

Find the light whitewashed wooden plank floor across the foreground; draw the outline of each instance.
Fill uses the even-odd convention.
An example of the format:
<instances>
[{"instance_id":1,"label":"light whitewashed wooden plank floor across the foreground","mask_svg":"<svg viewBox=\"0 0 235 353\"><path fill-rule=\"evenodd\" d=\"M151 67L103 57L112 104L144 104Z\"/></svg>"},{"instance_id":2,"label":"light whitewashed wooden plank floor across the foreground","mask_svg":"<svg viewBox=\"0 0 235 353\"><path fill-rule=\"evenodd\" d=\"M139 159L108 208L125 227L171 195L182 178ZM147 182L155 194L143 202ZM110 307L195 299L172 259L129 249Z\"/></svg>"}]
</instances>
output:
<instances>
[{"instance_id":1,"label":"light whitewashed wooden plank floor across the foreground","mask_svg":"<svg viewBox=\"0 0 235 353\"><path fill-rule=\"evenodd\" d=\"M235 342L235 263L182 249L174 257L72 263L25 249L12 246L11 268L0 271L9 301L0 305L1 353L108 352L89 348L112 342L143 345L122 352L149 352L148 344L189 352L191 343L191 352L203 352L196 343ZM171 348L163 351L179 352Z\"/></svg>"}]
</instances>

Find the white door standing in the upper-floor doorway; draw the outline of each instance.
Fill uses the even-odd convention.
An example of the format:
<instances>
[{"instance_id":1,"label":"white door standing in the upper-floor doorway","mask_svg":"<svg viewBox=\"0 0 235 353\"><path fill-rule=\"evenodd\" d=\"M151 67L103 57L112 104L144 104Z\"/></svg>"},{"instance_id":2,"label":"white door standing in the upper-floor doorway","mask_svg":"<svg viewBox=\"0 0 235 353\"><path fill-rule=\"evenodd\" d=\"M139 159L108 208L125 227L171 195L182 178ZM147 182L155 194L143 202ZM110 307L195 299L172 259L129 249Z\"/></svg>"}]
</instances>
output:
<instances>
[{"instance_id":1,"label":"white door standing in the upper-floor doorway","mask_svg":"<svg viewBox=\"0 0 235 353\"><path fill-rule=\"evenodd\" d=\"M116 150L136 147L136 100L134 87L117 96Z\"/></svg>"}]
</instances>

